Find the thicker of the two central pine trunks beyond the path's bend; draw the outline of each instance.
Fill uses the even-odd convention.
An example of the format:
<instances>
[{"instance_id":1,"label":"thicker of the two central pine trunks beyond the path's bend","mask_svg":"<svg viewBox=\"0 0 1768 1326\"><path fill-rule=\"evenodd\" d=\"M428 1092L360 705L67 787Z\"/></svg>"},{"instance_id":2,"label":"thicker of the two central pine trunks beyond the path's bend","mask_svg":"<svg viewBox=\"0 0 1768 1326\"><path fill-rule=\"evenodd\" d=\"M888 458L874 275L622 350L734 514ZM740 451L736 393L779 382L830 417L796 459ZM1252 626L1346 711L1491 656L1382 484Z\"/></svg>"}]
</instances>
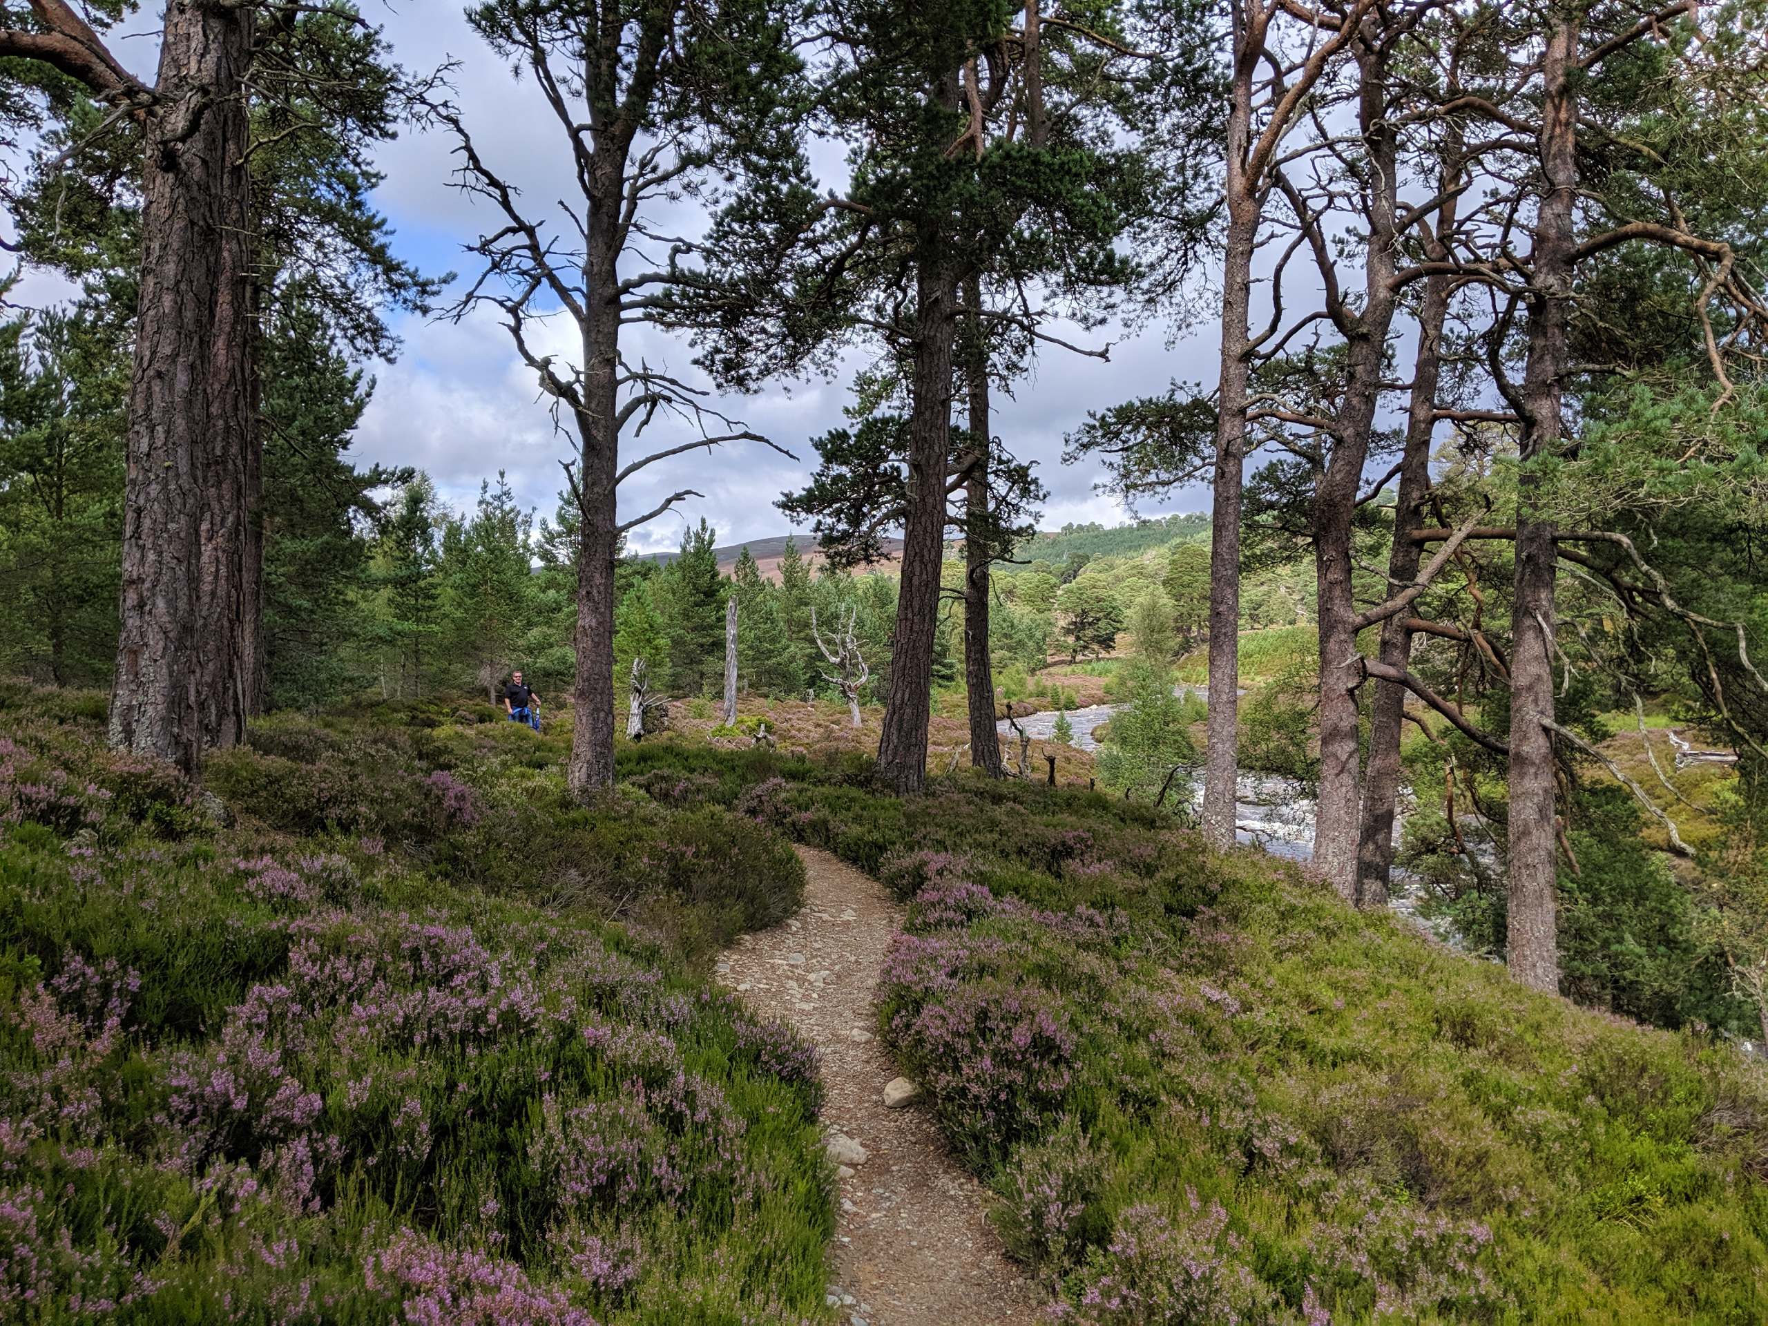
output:
<instances>
[{"instance_id":1,"label":"thicker of the two central pine trunks beyond the path's bend","mask_svg":"<svg viewBox=\"0 0 1768 1326\"><path fill-rule=\"evenodd\" d=\"M879 776L896 792L926 785L939 568L946 545L946 463L951 446L951 348L956 279L932 226L921 237L914 313L914 408L909 419L909 511L891 635L889 691Z\"/></svg>"}]
</instances>

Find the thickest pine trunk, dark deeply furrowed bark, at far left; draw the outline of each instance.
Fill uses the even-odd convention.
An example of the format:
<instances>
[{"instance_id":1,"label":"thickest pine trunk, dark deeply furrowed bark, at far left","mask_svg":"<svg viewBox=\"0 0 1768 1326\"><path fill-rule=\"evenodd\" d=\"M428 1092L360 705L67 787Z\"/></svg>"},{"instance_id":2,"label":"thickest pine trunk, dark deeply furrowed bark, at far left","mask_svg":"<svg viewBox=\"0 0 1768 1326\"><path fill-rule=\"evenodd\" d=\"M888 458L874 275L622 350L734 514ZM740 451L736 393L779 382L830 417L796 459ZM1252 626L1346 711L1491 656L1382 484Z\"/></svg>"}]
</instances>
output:
<instances>
[{"instance_id":1,"label":"thickest pine trunk, dark deeply furrowed bark, at far left","mask_svg":"<svg viewBox=\"0 0 1768 1326\"><path fill-rule=\"evenodd\" d=\"M141 171L110 741L196 773L244 732L249 7L170 5Z\"/></svg>"}]
</instances>

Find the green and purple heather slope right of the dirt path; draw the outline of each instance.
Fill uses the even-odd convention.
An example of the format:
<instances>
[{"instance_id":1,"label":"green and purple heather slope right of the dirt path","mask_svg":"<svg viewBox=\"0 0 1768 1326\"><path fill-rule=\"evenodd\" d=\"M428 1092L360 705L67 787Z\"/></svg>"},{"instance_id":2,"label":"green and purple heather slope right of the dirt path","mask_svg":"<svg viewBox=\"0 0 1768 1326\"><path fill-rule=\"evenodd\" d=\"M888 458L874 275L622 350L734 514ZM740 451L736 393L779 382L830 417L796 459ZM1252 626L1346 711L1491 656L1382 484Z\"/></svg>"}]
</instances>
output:
<instances>
[{"instance_id":1,"label":"green and purple heather slope right of the dirt path","mask_svg":"<svg viewBox=\"0 0 1768 1326\"><path fill-rule=\"evenodd\" d=\"M911 900L880 1027L1064 1321L1768 1319L1768 1084L1727 1043L1105 797L645 758Z\"/></svg>"}]
</instances>

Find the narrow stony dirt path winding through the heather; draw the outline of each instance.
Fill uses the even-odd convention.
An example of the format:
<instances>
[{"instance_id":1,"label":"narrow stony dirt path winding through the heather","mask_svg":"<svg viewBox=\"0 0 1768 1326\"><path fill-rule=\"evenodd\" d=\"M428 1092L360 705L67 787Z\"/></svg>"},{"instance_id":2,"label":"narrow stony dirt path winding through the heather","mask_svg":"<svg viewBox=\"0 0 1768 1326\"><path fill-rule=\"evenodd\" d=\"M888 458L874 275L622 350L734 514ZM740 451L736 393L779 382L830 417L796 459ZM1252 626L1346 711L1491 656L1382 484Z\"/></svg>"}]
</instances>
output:
<instances>
[{"instance_id":1,"label":"narrow stony dirt path winding through the heather","mask_svg":"<svg viewBox=\"0 0 1768 1326\"><path fill-rule=\"evenodd\" d=\"M822 1052L831 1132L868 1153L840 1181L829 1292L849 1326L1033 1322L1040 1298L983 1220L987 1195L921 1105L884 1107L896 1066L873 1038L872 990L902 907L827 852L799 847L804 907L743 935L718 979Z\"/></svg>"}]
</instances>

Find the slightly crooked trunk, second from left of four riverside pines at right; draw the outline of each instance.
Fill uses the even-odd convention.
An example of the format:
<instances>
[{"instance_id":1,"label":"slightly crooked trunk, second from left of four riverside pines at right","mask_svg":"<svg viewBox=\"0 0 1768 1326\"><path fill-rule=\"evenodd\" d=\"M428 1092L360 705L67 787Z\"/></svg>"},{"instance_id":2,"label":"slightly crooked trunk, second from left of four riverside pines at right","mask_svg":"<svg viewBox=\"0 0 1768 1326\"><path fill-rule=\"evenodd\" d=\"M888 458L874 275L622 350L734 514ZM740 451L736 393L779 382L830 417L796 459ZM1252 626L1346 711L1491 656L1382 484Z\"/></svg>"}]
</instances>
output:
<instances>
[{"instance_id":1,"label":"slightly crooked trunk, second from left of four riverside pines at right","mask_svg":"<svg viewBox=\"0 0 1768 1326\"><path fill-rule=\"evenodd\" d=\"M1368 27L1368 23L1365 23ZM1314 865L1340 898L1356 896L1356 847L1361 789L1358 787L1356 599L1351 583L1351 522L1368 460L1393 324L1395 131L1388 118L1386 58L1377 39L1356 48L1360 120L1368 150L1365 295L1347 315L1344 394L1333 419L1331 456L1314 490L1314 569L1319 589L1319 735L1321 783L1314 820Z\"/></svg>"}]
</instances>

